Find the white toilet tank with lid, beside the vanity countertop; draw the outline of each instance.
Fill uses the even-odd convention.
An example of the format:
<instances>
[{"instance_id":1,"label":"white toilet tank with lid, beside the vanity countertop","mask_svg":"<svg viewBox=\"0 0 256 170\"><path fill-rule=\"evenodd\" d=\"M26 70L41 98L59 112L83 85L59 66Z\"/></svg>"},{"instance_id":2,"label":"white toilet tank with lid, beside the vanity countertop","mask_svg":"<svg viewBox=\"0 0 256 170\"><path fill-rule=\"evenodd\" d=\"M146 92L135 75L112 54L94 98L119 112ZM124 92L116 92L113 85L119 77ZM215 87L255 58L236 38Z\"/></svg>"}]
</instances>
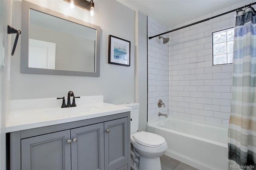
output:
<instances>
[{"instance_id":1,"label":"white toilet tank with lid, beside the vanity countertop","mask_svg":"<svg viewBox=\"0 0 256 170\"><path fill-rule=\"evenodd\" d=\"M132 111L131 111L131 133L136 132L139 129L140 103L122 103L119 105L132 108Z\"/></svg>"}]
</instances>

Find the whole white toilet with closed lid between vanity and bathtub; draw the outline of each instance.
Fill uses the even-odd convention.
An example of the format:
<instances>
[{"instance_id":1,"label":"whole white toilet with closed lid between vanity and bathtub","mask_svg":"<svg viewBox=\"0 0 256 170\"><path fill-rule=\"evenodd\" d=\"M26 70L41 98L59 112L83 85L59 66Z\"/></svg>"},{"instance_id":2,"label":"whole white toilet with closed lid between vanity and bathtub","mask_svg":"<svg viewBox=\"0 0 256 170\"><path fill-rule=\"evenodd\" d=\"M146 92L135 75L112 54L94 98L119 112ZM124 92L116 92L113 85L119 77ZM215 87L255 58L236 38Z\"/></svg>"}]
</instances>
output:
<instances>
[{"instance_id":1,"label":"whole white toilet with closed lid between vanity and bathtub","mask_svg":"<svg viewBox=\"0 0 256 170\"><path fill-rule=\"evenodd\" d=\"M154 133L138 132L139 103L124 103L131 107L131 168L133 170L161 170L160 156L167 150L165 139ZM137 160L136 160L137 158ZM139 162L139 165L138 165Z\"/></svg>"}]
</instances>

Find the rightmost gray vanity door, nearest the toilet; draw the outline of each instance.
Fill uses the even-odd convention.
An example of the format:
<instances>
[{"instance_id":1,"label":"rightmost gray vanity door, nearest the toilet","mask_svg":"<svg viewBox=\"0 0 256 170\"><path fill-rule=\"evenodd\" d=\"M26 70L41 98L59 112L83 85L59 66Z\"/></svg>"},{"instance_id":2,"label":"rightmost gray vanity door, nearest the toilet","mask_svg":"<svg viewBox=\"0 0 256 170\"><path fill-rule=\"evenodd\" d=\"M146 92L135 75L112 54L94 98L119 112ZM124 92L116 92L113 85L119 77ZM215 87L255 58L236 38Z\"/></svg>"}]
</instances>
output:
<instances>
[{"instance_id":1,"label":"rightmost gray vanity door, nearest the toilet","mask_svg":"<svg viewBox=\"0 0 256 170\"><path fill-rule=\"evenodd\" d=\"M104 123L105 169L128 160L128 118ZM129 138L130 139L130 138Z\"/></svg>"}]
</instances>

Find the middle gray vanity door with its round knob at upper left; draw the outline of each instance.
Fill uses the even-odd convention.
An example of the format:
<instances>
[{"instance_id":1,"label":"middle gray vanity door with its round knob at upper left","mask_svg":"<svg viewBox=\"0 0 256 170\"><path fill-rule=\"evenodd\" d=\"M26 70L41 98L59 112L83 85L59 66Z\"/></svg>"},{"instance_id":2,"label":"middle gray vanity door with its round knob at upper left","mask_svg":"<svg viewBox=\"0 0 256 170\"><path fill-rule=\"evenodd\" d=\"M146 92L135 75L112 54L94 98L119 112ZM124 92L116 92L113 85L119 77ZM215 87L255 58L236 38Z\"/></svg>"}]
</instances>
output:
<instances>
[{"instance_id":1,"label":"middle gray vanity door with its round knob at upper left","mask_svg":"<svg viewBox=\"0 0 256 170\"><path fill-rule=\"evenodd\" d=\"M71 129L72 170L104 170L104 124Z\"/></svg>"}]
</instances>

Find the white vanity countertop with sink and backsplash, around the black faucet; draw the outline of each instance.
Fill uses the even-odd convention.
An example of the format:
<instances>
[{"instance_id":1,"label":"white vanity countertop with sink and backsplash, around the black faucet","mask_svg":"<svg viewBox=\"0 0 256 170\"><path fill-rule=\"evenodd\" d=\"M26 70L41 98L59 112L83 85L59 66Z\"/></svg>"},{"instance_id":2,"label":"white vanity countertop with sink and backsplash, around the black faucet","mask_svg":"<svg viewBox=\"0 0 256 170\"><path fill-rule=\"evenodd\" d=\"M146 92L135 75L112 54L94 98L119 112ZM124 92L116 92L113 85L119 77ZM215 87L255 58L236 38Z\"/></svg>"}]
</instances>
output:
<instances>
[{"instance_id":1,"label":"white vanity countertop with sink and backsplash, around the black faucet","mask_svg":"<svg viewBox=\"0 0 256 170\"><path fill-rule=\"evenodd\" d=\"M132 110L130 107L103 103L103 96L81 97L80 100L78 98L76 99L77 107L69 108L60 108L62 99L58 101L56 98L35 100L11 101L6 132L80 121ZM51 107L47 107L49 105L46 104L44 105L46 107L38 108L42 107L44 101L47 101ZM55 106L56 104L59 106Z\"/></svg>"}]
</instances>

